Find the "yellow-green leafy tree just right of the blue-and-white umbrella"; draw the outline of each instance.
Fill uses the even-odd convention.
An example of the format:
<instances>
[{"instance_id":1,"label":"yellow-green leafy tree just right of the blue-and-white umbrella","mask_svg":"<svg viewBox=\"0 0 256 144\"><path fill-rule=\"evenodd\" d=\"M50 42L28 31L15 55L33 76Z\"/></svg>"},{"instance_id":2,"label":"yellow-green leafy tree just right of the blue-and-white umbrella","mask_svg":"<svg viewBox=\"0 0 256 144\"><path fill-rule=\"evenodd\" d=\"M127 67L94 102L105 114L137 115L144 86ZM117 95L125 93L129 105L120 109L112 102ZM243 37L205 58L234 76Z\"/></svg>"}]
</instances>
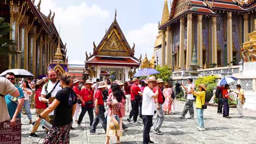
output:
<instances>
[{"instance_id":1,"label":"yellow-green leafy tree just right of the blue-and-white umbrella","mask_svg":"<svg viewBox=\"0 0 256 144\"><path fill-rule=\"evenodd\" d=\"M160 67L160 65L158 65L156 70L160 72L160 74L156 74L156 78L161 78L163 81L168 81L168 79L170 79L172 76L172 69L167 65L164 67Z\"/></svg>"}]
</instances>

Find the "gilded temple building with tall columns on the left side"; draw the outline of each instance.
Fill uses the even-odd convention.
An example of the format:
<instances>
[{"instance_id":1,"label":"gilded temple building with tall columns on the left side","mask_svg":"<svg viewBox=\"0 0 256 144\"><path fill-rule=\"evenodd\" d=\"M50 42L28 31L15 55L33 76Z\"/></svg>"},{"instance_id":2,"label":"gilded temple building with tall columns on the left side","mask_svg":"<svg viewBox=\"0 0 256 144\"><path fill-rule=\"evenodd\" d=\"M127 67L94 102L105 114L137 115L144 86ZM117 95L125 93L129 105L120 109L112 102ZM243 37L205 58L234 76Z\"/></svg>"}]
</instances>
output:
<instances>
[{"instance_id":1,"label":"gilded temple building with tall columns on the left side","mask_svg":"<svg viewBox=\"0 0 256 144\"><path fill-rule=\"evenodd\" d=\"M13 29L10 39L15 40L16 46L11 49L21 51L19 55L9 56L0 70L26 69L38 76L46 74L51 61L67 61L66 44L63 45L54 25L55 13L50 10L48 16L44 15L40 3L41 0L38 4L34 0L0 2L1 17Z\"/></svg>"}]
</instances>

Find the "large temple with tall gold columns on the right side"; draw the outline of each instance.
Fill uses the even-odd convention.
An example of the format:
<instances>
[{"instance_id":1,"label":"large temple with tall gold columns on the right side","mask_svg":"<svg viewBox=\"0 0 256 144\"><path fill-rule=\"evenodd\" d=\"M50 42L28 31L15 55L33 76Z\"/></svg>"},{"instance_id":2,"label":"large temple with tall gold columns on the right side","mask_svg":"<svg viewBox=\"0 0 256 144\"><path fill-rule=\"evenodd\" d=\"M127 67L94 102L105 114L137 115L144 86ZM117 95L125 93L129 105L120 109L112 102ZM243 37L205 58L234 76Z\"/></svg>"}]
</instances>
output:
<instances>
[{"instance_id":1,"label":"large temple with tall gold columns on the right side","mask_svg":"<svg viewBox=\"0 0 256 144\"><path fill-rule=\"evenodd\" d=\"M194 45L204 68L226 67L234 57L239 62L241 46L254 31L255 9L254 0L173 0L169 13L165 0L154 53L173 70L189 70Z\"/></svg>"}]
</instances>

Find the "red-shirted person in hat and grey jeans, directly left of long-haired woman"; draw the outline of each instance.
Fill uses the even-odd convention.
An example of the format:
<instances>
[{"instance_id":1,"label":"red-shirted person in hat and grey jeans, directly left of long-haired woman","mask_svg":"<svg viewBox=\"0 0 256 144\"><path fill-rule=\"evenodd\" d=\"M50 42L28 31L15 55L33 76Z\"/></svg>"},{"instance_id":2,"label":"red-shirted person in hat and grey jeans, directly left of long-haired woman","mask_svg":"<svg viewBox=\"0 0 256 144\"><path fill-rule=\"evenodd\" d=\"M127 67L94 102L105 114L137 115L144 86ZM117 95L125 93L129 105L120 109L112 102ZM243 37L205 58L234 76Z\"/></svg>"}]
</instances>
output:
<instances>
[{"instance_id":1,"label":"red-shirted person in hat and grey jeans, directly left of long-haired woman","mask_svg":"<svg viewBox=\"0 0 256 144\"><path fill-rule=\"evenodd\" d=\"M106 131L106 118L104 116L104 112L106 111L104 108L104 101L103 101L103 90L107 87L104 81L98 83L98 89L95 92L95 118L94 122L92 122L90 133L94 134L98 122L100 121L102 124L103 129Z\"/></svg>"}]
</instances>

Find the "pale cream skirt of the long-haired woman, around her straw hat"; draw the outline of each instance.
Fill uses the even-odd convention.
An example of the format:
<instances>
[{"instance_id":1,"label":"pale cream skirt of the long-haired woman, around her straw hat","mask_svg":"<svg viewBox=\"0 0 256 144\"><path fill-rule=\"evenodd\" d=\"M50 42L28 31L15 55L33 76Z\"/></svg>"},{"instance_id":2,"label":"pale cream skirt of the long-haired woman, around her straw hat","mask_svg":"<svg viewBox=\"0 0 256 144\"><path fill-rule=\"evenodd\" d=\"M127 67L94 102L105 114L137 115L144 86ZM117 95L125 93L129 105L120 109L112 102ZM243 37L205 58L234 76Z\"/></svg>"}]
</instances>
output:
<instances>
[{"instance_id":1,"label":"pale cream skirt of the long-haired woman, around her straw hat","mask_svg":"<svg viewBox=\"0 0 256 144\"><path fill-rule=\"evenodd\" d=\"M115 133L117 133L118 136L123 136L123 127L122 127L123 121L122 121L122 118L120 118L120 122L119 122L120 129L119 130L112 130L109 127L112 117L113 117L113 114L111 116L108 115L108 117L107 117L107 131L106 131L106 135L107 136L111 136L111 137L115 137L116 136Z\"/></svg>"}]
</instances>

